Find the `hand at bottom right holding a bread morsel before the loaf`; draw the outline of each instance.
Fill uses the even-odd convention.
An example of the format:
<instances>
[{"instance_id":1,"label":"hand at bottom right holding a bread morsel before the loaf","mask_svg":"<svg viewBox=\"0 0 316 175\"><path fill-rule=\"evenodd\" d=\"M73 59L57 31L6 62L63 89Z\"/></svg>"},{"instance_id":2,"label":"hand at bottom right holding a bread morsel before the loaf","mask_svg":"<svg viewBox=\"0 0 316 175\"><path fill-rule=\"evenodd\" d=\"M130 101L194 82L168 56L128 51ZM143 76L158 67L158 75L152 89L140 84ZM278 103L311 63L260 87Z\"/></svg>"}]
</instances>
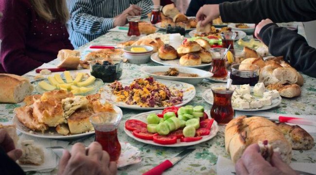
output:
<instances>
[{"instance_id":1,"label":"hand at bottom right holding a bread morsel before the loaf","mask_svg":"<svg viewBox=\"0 0 316 175\"><path fill-rule=\"evenodd\" d=\"M237 161L235 170L237 175L296 175L277 152L272 154L271 164L266 161L258 144L246 148L243 156Z\"/></svg>"}]
</instances>

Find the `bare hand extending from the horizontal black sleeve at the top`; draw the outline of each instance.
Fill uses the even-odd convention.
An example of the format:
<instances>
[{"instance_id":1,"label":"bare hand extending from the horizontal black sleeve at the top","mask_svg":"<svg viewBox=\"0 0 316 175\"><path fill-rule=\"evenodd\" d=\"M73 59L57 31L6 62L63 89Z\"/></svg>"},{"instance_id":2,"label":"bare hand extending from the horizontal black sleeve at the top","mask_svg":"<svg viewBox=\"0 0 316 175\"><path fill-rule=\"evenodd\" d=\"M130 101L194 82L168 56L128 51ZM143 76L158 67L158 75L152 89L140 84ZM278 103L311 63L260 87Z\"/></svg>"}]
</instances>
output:
<instances>
[{"instance_id":1,"label":"bare hand extending from the horizontal black sleeve at the top","mask_svg":"<svg viewBox=\"0 0 316 175\"><path fill-rule=\"evenodd\" d=\"M205 26L207 23L210 23L213 19L219 17L219 5L203 5L196 13L196 19L201 21L201 26Z\"/></svg>"}]
</instances>

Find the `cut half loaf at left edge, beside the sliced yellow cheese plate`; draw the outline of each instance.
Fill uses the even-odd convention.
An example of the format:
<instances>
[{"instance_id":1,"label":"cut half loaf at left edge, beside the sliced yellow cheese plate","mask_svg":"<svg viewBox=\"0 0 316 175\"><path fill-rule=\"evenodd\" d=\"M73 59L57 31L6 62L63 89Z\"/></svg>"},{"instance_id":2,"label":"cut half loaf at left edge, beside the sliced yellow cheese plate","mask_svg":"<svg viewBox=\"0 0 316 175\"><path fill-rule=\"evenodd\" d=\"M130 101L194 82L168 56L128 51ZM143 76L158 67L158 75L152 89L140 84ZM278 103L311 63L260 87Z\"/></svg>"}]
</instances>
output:
<instances>
[{"instance_id":1,"label":"cut half loaf at left edge, beside the sliced yellow cheese plate","mask_svg":"<svg viewBox=\"0 0 316 175\"><path fill-rule=\"evenodd\" d=\"M19 103L30 95L33 86L29 79L7 73L0 73L0 103Z\"/></svg>"}]
</instances>

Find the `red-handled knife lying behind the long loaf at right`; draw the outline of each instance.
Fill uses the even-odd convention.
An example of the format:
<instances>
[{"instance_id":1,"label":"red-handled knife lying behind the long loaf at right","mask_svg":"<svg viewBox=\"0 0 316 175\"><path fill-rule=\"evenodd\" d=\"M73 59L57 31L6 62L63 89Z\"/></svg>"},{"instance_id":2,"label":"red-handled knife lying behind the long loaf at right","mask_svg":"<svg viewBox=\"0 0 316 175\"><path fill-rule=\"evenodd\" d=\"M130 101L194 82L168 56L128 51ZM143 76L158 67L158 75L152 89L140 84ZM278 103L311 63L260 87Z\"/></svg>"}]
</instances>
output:
<instances>
[{"instance_id":1,"label":"red-handled knife lying behind the long loaf at right","mask_svg":"<svg viewBox=\"0 0 316 175\"><path fill-rule=\"evenodd\" d=\"M246 117L253 117L253 116L246 115ZM316 121L302 119L302 118L296 118L296 117L285 117L285 116L279 116L279 117L258 116L258 117L264 117L264 118L267 118L268 120L277 121L277 122L281 122L281 123L293 123L293 124L303 124L303 125L316 126Z\"/></svg>"}]
</instances>

